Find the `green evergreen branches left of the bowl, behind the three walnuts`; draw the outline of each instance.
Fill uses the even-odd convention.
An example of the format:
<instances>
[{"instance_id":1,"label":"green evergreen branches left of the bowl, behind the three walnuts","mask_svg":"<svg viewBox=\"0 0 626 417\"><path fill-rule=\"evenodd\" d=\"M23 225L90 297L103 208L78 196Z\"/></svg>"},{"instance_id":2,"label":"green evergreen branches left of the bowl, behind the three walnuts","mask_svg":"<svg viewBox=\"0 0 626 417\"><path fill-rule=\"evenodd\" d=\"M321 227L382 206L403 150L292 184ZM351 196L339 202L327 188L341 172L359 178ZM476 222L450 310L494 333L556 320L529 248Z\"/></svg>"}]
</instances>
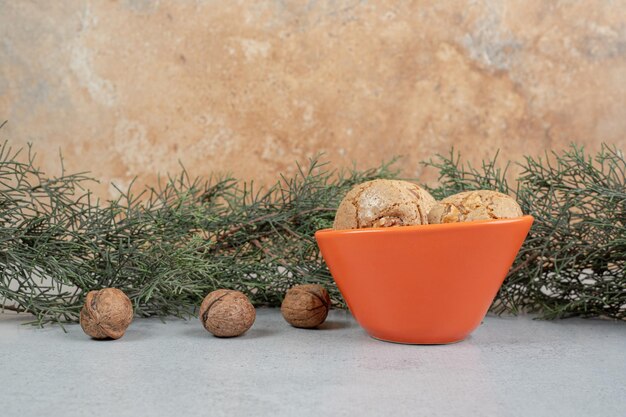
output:
<instances>
[{"instance_id":1,"label":"green evergreen branches left of the bowl, behind the three walnuts","mask_svg":"<svg viewBox=\"0 0 626 417\"><path fill-rule=\"evenodd\" d=\"M23 152L0 149L0 311L40 325L76 321L86 293L103 287L126 292L140 316L187 316L217 288L278 306L297 283L323 284L344 306L313 235L352 186L397 175L393 161L336 171L316 158L262 189L183 169L102 203L88 176L49 178Z\"/></svg>"}]
</instances>

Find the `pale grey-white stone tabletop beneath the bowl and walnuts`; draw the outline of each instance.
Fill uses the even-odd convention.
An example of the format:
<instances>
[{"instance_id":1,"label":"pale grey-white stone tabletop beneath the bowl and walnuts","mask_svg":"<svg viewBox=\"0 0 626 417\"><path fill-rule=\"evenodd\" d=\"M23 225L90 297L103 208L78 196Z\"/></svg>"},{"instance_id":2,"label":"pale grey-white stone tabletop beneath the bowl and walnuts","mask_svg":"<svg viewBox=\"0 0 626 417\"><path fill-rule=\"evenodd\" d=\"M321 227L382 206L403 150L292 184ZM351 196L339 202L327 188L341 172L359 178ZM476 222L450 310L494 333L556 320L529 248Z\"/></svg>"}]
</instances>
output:
<instances>
[{"instance_id":1,"label":"pale grey-white stone tabletop beneath the bowl and walnuts","mask_svg":"<svg viewBox=\"0 0 626 417\"><path fill-rule=\"evenodd\" d=\"M261 309L217 339L137 319L118 341L0 314L0 415L625 416L626 323L487 317L464 342L373 340L345 312L320 330Z\"/></svg>"}]
</instances>

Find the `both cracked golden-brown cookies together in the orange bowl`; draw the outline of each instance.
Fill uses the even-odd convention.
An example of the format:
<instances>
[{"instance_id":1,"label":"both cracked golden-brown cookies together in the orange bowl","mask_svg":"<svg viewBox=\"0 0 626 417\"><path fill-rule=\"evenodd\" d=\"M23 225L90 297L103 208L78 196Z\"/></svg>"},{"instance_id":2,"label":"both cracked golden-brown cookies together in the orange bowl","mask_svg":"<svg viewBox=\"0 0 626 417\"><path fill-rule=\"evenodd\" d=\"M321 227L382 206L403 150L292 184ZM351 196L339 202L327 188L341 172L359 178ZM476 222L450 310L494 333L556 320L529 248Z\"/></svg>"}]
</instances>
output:
<instances>
[{"instance_id":1,"label":"both cracked golden-brown cookies together in the orange bowl","mask_svg":"<svg viewBox=\"0 0 626 417\"><path fill-rule=\"evenodd\" d=\"M465 191L436 201L417 184L381 179L352 188L337 209L333 227L340 230L459 223L521 215L519 204L497 191Z\"/></svg>"}]
</instances>

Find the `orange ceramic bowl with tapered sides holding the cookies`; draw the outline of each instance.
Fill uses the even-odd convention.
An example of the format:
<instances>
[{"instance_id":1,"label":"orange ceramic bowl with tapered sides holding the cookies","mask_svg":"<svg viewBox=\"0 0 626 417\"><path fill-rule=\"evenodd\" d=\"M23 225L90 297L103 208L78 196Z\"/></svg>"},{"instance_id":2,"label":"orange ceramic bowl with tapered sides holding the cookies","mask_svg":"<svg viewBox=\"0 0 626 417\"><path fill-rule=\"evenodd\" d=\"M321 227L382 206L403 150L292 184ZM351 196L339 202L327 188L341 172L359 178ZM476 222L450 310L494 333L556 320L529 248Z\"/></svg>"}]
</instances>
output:
<instances>
[{"instance_id":1,"label":"orange ceramic bowl with tapered sides holding the cookies","mask_svg":"<svg viewBox=\"0 0 626 417\"><path fill-rule=\"evenodd\" d=\"M373 337L439 344L485 317L531 216L315 234L339 291Z\"/></svg>"}]
</instances>

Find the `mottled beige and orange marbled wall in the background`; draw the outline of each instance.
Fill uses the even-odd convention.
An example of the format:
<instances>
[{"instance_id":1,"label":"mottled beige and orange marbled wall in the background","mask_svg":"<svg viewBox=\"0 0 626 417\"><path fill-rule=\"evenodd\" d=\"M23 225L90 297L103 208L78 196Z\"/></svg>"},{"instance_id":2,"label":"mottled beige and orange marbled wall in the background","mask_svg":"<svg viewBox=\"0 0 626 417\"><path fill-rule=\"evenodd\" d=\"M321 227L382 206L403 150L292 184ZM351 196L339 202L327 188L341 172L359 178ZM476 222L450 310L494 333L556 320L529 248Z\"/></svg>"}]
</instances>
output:
<instances>
[{"instance_id":1,"label":"mottled beige and orange marbled wall in the background","mask_svg":"<svg viewBox=\"0 0 626 417\"><path fill-rule=\"evenodd\" d=\"M0 0L0 136L58 171L267 182L626 145L626 0Z\"/></svg>"}]
</instances>

